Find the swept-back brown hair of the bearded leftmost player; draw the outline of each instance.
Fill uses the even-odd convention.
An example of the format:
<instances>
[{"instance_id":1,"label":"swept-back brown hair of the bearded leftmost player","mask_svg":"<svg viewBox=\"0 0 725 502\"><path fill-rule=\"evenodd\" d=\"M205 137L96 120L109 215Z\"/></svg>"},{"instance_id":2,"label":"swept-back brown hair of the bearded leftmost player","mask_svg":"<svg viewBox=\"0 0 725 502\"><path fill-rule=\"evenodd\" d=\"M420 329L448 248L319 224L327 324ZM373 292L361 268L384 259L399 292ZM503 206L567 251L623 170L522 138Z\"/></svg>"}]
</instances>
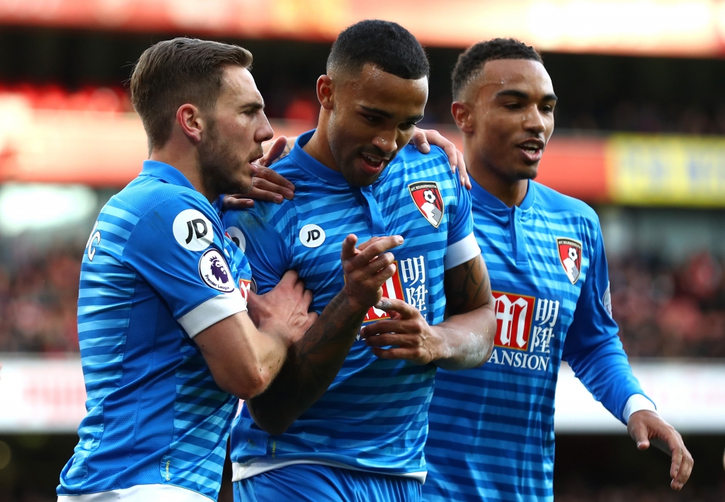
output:
<instances>
[{"instance_id":1,"label":"swept-back brown hair of the bearded leftmost player","mask_svg":"<svg viewBox=\"0 0 725 502\"><path fill-rule=\"evenodd\" d=\"M168 141L178 107L191 103L210 110L219 97L224 68L250 65L247 49L197 38L174 38L146 49L133 67L130 87L149 151Z\"/></svg>"}]
</instances>

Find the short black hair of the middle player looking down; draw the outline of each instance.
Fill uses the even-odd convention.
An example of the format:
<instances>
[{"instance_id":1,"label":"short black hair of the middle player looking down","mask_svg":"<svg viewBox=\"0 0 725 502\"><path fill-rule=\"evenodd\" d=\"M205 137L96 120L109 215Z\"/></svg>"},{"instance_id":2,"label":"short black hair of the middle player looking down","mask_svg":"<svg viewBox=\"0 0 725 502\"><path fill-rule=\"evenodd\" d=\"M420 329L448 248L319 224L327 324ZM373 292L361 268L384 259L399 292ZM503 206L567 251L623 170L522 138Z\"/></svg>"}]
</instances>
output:
<instances>
[{"instance_id":1,"label":"short black hair of the middle player looking down","mask_svg":"<svg viewBox=\"0 0 725 502\"><path fill-rule=\"evenodd\" d=\"M361 70L371 63L407 80L430 74L428 57L413 33L395 22L364 20L346 28L332 44L327 70Z\"/></svg>"}]
</instances>

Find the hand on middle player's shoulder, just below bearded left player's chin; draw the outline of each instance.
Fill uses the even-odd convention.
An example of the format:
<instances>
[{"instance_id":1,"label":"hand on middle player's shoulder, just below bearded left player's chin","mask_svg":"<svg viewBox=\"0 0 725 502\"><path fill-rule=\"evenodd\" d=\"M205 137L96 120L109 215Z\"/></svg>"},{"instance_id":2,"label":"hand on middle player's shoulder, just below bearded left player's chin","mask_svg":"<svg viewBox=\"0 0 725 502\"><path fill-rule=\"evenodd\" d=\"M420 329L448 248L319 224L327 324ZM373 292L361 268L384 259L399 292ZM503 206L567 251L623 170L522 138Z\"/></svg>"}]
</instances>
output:
<instances>
[{"instance_id":1,"label":"hand on middle player's shoulder, just below bearded left player's chin","mask_svg":"<svg viewBox=\"0 0 725 502\"><path fill-rule=\"evenodd\" d=\"M291 200L294 197L294 185L268 167L289 153L289 149L291 149L289 141L285 136L280 136L269 144L265 155L254 162L254 165L257 166L257 173L252 178L252 190L248 194L224 197L224 210L252 207L254 206L252 199L281 204L284 199Z\"/></svg>"}]
</instances>

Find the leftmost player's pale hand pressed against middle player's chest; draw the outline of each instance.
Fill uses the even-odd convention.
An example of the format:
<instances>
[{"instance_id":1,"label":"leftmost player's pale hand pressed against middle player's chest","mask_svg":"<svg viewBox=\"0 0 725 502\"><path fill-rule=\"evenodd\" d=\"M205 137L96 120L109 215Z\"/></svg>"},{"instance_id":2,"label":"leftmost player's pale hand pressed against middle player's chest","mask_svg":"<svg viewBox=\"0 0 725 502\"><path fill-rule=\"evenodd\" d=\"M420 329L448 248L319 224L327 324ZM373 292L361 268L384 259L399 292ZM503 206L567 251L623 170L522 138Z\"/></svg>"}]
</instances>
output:
<instances>
[{"instance_id":1,"label":"leftmost player's pale hand pressed against middle player's chest","mask_svg":"<svg viewBox=\"0 0 725 502\"><path fill-rule=\"evenodd\" d=\"M249 317L260 331L278 334L287 345L297 342L317 320L315 312L307 312L312 292L305 289L295 271L286 271L274 289L265 295L249 292Z\"/></svg>"}]
</instances>

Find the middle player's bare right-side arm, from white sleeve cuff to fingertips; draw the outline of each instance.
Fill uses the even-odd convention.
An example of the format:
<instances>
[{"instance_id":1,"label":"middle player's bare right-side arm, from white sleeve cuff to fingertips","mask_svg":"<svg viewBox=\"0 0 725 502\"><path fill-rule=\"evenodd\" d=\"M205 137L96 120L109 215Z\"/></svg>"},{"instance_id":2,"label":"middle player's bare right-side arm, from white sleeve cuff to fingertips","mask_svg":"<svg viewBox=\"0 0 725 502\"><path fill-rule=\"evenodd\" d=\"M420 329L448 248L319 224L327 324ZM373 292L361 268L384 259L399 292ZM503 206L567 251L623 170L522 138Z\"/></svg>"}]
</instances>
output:
<instances>
[{"instance_id":1,"label":"middle player's bare right-side arm, from white sleeve cuff to fingertips","mask_svg":"<svg viewBox=\"0 0 725 502\"><path fill-rule=\"evenodd\" d=\"M456 370L481 366L491 355L496 316L486 263L481 255L445 272L447 314L430 326L421 313L402 300L381 302L390 320L365 326L360 336L381 359L434 363ZM384 349L382 347L392 346Z\"/></svg>"}]
</instances>

